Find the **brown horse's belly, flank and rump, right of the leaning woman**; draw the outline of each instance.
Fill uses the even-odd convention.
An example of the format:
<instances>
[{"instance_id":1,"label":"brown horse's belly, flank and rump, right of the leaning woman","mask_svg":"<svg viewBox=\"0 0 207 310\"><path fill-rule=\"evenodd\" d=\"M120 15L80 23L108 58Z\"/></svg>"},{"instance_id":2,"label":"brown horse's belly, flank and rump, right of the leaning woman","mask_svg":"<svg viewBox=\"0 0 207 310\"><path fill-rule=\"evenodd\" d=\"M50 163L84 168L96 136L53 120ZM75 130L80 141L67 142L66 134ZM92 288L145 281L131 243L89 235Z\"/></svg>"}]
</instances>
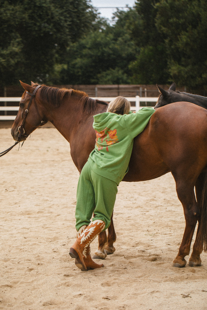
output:
<instances>
[{"instance_id":1,"label":"brown horse's belly, flank and rump, right of the leaning woman","mask_svg":"<svg viewBox=\"0 0 207 310\"><path fill-rule=\"evenodd\" d=\"M157 109L134 139L124 180L154 179L192 162L198 170L207 162L207 110L187 102L169 104Z\"/></svg>"}]
</instances>

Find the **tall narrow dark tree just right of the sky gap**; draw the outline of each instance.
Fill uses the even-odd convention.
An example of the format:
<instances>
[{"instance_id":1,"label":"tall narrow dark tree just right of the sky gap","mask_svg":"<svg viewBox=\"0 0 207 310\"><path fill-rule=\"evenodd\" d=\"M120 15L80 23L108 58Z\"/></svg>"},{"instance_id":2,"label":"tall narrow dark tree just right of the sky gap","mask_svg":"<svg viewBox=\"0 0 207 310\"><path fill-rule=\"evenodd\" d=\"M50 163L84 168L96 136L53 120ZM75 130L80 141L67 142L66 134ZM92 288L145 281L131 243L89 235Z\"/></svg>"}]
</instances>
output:
<instances>
[{"instance_id":1,"label":"tall narrow dark tree just right of the sky gap","mask_svg":"<svg viewBox=\"0 0 207 310\"><path fill-rule=\"evenodd\" d=\"M158 1L140 0L135 4L136 22L128 24L139 51L131 62L131 82L135 84L166 83L169 78L164 38L157 31L155 17Z\"/></svg>"}]
</instances>

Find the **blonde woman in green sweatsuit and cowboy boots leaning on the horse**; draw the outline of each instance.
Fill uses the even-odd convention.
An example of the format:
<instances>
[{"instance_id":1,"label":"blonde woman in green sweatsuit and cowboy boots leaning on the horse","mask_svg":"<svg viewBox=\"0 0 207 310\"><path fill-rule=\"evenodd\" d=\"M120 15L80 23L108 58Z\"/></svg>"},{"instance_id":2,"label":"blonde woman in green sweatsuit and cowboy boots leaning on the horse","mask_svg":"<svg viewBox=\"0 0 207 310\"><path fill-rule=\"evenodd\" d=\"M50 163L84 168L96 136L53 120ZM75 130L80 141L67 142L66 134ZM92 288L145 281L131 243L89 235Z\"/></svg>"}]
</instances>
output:
<instances>
[{"instance_id":1,"label":"blonde woman in green sweatsuit and cowboy boots leaning on the horse","mask_svg":"<svg viewBox=\"0 0 207 310\"><path fill-rule=\"evenodd\" d=\"M96 144L79 177L75 211L78 233L69 253L81 270L103 267L92 260L89 244L110 225L117 186L128 171L133 139L154 112L153 108L142 108L132 113L130 102L117 97L105 113L94 115Z\"/></svg>"}]
</instances>

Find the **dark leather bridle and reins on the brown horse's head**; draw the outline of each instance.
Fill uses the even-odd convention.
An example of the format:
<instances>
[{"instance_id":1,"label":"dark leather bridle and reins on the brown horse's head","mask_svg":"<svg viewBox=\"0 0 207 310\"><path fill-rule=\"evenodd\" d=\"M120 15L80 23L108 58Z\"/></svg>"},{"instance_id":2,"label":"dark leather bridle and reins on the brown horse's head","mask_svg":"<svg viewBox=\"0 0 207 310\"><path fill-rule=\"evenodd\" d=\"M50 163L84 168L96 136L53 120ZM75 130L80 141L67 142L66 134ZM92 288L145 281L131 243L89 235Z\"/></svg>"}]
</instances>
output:
<instances>
[{"instance_id":1,"label":"dark leather bridle and reins on the brown horse's head","mask_svg":"<svg viewBox=\"0 0 207 310\"><path fill-rule=\"evenodd\" d=\"M37 90L38 90L41 86L42 86L42 85L38 85L37 87L35 87L33 93L29 93L29 91L26 91L26 93L27 93L28 95L30 95L31 98L30 98L30 100L29 100L28 107L27 107L27 109L25 110L25 114L24 114L24 117L23 117L22 124L21 124L21 126L19 126L19 128L18 128L19 135L18 135L18 137L17 137L17 139L16 139L15 144L12 145L10 148L7 148L7 150L1 152L1 153L0 153L0 157L3 156L3 155L5 155L6 153L8 153L16 144L20 143L21 136L23 136L23 137L25 137L25 138L27 138L27 137L29 136L29 135L25 135L25 130L24 130L25 119L26 119L26 116L27 116L27 114L28 114L28 112L29 112L29 107L30 107L30 105L31 105L31 103L32 103L32 100L33 100L33 98L35 97L35 94L36 94ZM41 119L42 117L41 117L40 114L39 114L39 111L38 111L38 108L37 108L37 104L36 104L35 99L34 99L34 105L35 105L37 114L38 114L39 118ZM40 126L43 126L43 125L46 124L46 123L47 123L47 121L41 121L41 125L40 125ZM18 140L19 140L19 141L18 141ZM23 143L24 143L24 141L23 141Z\"/></svg>"}]
</instances>

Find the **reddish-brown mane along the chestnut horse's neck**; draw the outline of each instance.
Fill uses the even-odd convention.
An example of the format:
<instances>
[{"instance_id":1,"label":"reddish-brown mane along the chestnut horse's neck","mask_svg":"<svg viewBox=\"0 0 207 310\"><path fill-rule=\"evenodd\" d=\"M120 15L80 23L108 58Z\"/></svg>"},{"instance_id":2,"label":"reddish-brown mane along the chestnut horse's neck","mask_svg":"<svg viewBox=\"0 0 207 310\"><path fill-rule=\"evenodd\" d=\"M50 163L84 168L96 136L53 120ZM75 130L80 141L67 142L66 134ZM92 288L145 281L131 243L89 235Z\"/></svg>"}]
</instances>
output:
<instances>
[{"instance_id":1,"label":"reddish-brown mane along the chestnut horse's neck","mask_svg":"<svg viewBox=\"0 0 207 310\"><path fill-rule=\"evenodd\" d=\"M67 89L42 85L40 90L42 99L47 101L54 108L58 108L61 105L63 98L66 96L68 98L71 96L79 97L79 102L82 104L82 111L88 114L96 112L98 103L107 105L107 102L105 101L92 99L88 97L88 94L86 94L84 91L78 91L72 88Z\"/></svg>"}]
</instances>

